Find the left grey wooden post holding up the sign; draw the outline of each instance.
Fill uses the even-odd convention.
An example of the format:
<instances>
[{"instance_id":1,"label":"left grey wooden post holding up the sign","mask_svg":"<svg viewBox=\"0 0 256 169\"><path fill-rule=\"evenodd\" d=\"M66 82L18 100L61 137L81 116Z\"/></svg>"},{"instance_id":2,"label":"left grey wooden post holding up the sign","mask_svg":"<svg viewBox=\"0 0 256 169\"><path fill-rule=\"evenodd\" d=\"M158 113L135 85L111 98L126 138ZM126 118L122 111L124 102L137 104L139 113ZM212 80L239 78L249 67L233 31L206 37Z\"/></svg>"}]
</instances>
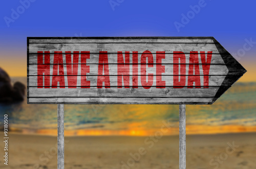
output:
<instances>
[{"instance_id":1,"label":"left grey wooden post holding up the sign","mask_svg":"<svg viewBox=\"0 0 256 169\"><path fill-rule=\"evenodd\" d=\"M64 104L58 104L58 169L64 169Z\"/></svg>"}]
</instances>

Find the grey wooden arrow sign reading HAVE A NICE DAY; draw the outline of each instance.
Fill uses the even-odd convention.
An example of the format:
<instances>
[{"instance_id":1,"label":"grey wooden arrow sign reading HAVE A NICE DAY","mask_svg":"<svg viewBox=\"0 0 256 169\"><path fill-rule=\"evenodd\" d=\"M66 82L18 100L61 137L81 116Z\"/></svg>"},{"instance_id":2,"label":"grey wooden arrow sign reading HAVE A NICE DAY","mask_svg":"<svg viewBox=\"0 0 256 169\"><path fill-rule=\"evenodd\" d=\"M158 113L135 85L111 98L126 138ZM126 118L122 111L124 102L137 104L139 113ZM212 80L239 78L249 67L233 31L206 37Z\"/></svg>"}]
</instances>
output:
<instances>
[{"instance_id":1,"label":"grey wooden arrow sign reading HAVE A NICE DAY","mask_svg":"<svg viewBox=\"0 0 256 169\"><path fill-rule=\"evenodd\" d=\"M213 37L27 41L34 104L212 104L246 72Z\"/></svg>"}]
</instances>

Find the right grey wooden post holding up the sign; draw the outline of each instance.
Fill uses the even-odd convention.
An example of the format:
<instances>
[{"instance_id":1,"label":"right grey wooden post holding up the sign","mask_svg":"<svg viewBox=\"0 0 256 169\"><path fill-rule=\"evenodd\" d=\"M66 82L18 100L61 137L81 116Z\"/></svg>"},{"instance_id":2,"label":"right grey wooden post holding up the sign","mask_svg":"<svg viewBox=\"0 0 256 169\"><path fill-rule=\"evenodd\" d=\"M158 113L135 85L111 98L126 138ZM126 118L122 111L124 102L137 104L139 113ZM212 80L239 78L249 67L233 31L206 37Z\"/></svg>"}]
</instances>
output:
<instances>
[{"instance_id":1,"label":"right grey wooden post holding up the sign","mask_svg":"<svg viewBox=\"0 0 256 169\"><path fill-rule=\"evenodd\" d=\"M179 169L186 169L186 105L180 104L180 160Z\"/></svg>"}]
</instances>

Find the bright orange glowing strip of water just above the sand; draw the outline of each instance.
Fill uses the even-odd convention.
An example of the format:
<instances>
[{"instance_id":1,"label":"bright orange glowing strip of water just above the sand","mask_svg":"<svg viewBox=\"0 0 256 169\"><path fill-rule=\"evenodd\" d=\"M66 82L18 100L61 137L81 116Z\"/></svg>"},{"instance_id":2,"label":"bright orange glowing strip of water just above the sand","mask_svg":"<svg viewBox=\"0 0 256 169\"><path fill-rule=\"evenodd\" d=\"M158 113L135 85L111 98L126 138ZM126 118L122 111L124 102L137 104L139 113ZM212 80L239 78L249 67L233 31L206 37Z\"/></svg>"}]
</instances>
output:
<instances>
[{"instance_id":1,"label":"bright orange glowing strip of water just above the sand","mask_svg":"<svg viewBox=\"0 0 256 169\"><path fill-rule=\"evenodd\" d=\"M167 130L167 128L164 128ZM15 129L12 129L15 132ZM16 130L17 133L23 134L40 134L57 136L57 129L40 129L35 133L28 130ZM241 133L241 132L256 132L256 126L241 126L241 125L223 125L223 126L207 126L207 125L189 125L186 126L186 134L221 134L221 133ZM156 133L163 135L178 135L179 127L168 129L167 132L162 132L161 129L146 129L146 130L95 130L95 129L79 129L65 130L65 136L150 136Z\"/></svg>"}]
</instances>

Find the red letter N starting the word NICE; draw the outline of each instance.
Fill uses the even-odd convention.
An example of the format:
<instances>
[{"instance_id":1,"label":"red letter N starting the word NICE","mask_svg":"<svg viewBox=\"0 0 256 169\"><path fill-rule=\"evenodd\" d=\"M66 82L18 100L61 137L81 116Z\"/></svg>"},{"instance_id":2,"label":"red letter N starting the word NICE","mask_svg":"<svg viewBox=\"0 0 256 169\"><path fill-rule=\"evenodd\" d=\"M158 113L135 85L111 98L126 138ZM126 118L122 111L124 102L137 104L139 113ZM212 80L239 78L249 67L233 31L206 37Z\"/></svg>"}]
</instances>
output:
<instances>
[{"instance_id":1,"label":"red letter N starting the word NICE","mask_svg":"<svg viewBox=\"0 0 256 169\"><path fill-rule=\"evenodd\" d=\"M123 53L117 52L117 88L122 88L122 77L124 88L130 88L130 52L125 51L125 63L123 61ZM123 76L124 75L124 76Z\"/></svg>"}]
</instances>

